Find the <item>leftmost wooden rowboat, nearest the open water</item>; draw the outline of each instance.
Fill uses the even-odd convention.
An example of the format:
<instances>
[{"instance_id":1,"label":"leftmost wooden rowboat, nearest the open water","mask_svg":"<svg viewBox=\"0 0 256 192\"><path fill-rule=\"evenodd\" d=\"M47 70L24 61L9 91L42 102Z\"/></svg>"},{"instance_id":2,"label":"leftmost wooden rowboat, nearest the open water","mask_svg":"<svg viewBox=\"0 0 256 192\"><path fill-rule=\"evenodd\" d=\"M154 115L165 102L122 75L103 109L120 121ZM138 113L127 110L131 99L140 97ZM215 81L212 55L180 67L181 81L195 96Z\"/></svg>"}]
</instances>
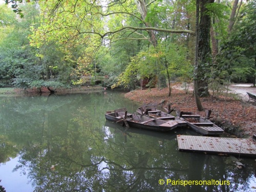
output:
<instances>
[{"instance_id":1,"label":"leftmost wooden rowboat, nearest the open water","mask_svg":"<svg viewBox=\"0 0 256 192\"><path fill-rule=\"evenodd\" d=\"M125 109L115 110L114 112L106 112L105 118L107 120L122 124L126 122L127 125L132 127L161 132L173 130L179 125L178 122L174 120L165 121L138 114L128 114Z\"/></svg>"}]
</instances>

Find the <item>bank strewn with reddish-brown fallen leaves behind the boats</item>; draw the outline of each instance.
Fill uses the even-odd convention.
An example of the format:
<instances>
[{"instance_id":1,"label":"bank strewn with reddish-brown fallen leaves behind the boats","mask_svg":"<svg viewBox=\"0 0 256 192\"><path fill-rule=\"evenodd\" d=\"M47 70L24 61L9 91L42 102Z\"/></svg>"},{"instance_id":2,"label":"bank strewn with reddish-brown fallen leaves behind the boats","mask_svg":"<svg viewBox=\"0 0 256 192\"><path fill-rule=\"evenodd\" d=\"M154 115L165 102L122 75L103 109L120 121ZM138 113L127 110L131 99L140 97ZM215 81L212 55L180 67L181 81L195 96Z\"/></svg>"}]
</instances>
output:
<instances>
[{"instance_id":1,"label":"bank strewn with reddish-brown fallen leaves behind the boats","mask_svg":"<svg viewBox=\"0 0 256 192\"><path fill-rule=\"evenodd\" d=\"M168 88L135 90L126 93L125 97L141 104L156 104L165 108L168 104L171 104L172 109L196 108L193 91L188 91L186 94L184 90L175 88L172 89L170 97L168 97ZM211 121L221 126L226 133L242 138L249 138L255 134L256 107L254 105L236 99L233 95L227 98L223 95L214 98L204 97L201 98L201 103L204 109L212 111ZM205 112L198 113L205 116Z\"/></svg>"}]
</instances>

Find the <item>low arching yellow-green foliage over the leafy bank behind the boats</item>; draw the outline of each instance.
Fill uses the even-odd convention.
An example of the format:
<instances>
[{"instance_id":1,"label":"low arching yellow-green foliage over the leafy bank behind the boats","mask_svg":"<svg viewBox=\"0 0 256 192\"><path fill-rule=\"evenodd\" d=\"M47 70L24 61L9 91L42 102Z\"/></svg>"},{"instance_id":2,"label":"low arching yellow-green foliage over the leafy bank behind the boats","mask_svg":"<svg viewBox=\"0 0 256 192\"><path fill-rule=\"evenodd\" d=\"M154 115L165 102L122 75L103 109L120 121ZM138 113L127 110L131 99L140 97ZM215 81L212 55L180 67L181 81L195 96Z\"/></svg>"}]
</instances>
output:
<instances>
[{"instance_id":1,"label":"low arching yellow-green foliage over the leafy bank behind the boats","mask_svg":"<svg viewBox=\"0 0 256 192\"><path fill-rule=\"evenodd\" d=\"M141 51L132 58L125 71L118 77L114 87L124 86L135 88L136 82L142 78L152 78L159 75L159 72L168 73L175 79L180 77L183 82L190 82L193 74L193 66L186 59L185 47L176 44L163 42L158 48L151 48L148 51ZM166 77L165 77L166 78ZM166 79L165 79L166 81Z\"/></svg>"}]
</instances>

